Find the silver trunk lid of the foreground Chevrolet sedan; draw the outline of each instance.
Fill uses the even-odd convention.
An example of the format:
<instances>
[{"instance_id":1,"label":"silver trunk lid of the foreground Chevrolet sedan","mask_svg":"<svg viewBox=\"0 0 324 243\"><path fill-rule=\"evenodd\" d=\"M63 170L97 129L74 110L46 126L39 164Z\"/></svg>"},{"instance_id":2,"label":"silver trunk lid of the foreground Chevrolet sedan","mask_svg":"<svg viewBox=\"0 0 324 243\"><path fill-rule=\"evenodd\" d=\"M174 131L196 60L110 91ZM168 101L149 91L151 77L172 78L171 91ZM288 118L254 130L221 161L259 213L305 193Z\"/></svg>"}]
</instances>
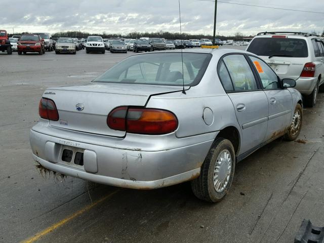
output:
<instances>
[{"instance_id":1,"label":"silver trunk lid of the foreground Chevrolet sedan","mask_svg":"<svg viewBox=\"0 0 324 243\"><path fill-rule=\"evenodd\" d=\"M182 87L132 84L91 84L47 89L43 95L52 99L59 120L50 126L78 132L124 137L126 132L107 126L107 115L118 106L145 106L151 95L181 91Z\"/></svg>"}]
</instances>

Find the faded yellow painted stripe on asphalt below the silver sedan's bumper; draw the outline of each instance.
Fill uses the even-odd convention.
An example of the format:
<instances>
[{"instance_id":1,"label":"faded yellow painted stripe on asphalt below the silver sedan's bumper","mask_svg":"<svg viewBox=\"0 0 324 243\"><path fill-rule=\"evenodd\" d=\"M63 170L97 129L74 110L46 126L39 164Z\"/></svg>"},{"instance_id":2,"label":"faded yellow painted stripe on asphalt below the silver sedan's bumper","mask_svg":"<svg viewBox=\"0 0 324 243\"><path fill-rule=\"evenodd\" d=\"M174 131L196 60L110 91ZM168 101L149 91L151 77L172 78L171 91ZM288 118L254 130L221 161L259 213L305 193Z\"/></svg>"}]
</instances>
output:
<instances>
[{"instance_id":1,"label":"faded yellow painted stripe on asphalt below the silver sedan's bumper","mask_svg":"<svg viewBox=\"0 0 324 243\"><path fill-rule=\"evenodd\" d=\"M25 239L23 241L21 241L21 243L32 243L32 242L35 242L36 240L38 240L39 238L47 235L48 233L52 232L53 230L57 229L58 227L66 224L67 222L69 222L70 220L74 219L76 216L79 216L81 214L83 214L84 212L92 209L93 207L95 207L96 205L100 204L102 201L108 199L109 197L111 197L112 195L114 195L115 193L117 193L119 190L116 190L106 196L104 196L103 198L95 201L93 204L91 205L88 205L87 207L83 208L82 210L79 210L77 212L75 212L74 214L72 214L71 216L65 218L65 219L62 219L61 221L57 222L56 224L53 224L52 226L48 227L47 229L41 231L41 232L38 232L37 234L35 234L34 236L28 238L28 239Z\"/></svg>"}]
</instances>

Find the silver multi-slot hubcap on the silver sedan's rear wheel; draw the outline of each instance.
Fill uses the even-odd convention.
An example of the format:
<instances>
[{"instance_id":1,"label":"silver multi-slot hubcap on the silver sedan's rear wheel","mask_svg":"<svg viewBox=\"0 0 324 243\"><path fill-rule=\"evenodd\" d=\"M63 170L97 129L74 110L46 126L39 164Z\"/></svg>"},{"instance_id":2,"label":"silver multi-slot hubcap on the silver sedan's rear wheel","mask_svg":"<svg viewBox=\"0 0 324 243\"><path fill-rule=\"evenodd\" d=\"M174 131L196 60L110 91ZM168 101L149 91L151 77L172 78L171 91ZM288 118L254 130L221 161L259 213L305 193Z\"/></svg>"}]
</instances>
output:
<instances>
[{"instance_id":1,"label":"silver multi-slot hubcap on the silver sedan's rear wheel","mask_svg":"<svg viewBox=\"0 0 324 243\"><path fill-rule=\"evenodd\" d=\"M214 188L222 192L228 184L232 171L232 157L227 149L221 151L214 168Z\"/></svg>"}]
</instances>

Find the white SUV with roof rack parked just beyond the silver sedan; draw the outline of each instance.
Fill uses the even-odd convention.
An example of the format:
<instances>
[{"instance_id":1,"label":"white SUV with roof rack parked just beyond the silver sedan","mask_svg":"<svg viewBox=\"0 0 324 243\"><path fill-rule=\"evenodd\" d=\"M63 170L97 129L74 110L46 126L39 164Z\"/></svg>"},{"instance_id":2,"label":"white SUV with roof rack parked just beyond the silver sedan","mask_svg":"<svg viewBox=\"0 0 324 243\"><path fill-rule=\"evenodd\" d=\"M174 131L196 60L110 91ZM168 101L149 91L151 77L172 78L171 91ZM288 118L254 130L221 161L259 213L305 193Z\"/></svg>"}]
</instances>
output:
<instances>
[{"instance_id":1,"label":"white SUV with roof rack parked just beyond the silver sedan","mask_svg":"<svg viewBox=\"0 0 324 243\"><path fill-rule=\"evenodd\" d=\"M295 79L295 89L304 96L306 105L315 105L318 90L324 91L324 44L319 37L301 32L262 32L252 39L247 51L265 60L280 78Z\"/></svg>"}]
</instances>

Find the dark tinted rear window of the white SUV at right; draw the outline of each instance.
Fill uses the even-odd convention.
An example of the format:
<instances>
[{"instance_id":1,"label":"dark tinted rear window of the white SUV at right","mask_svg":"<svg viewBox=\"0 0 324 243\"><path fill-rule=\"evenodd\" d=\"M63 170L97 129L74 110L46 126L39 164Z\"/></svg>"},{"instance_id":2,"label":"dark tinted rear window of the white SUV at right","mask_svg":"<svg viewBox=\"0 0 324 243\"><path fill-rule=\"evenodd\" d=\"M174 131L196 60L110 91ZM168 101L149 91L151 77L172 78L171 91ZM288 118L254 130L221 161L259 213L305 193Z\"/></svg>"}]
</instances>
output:
<instances>
[{"instance_id":1,"label":"dark tinted rear window of the white SUV at right","mask_svg":"<svg viewBox=\"0 0 324 243\"><path fill-rule=\"evenodd\" d=\"M308 57L306 41L295 38L255 38L247 51L268 57Z\"/></svg>"}]
</instances>

